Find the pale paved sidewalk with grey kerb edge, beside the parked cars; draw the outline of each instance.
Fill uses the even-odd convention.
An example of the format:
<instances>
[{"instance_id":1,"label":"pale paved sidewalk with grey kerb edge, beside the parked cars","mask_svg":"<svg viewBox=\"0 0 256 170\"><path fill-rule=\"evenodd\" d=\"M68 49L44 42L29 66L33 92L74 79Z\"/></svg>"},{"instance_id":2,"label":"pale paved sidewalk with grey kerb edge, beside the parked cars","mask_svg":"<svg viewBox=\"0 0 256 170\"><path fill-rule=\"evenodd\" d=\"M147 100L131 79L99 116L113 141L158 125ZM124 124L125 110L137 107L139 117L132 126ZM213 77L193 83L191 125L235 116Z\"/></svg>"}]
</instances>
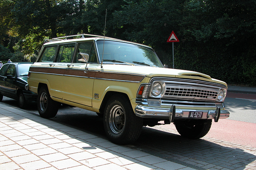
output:
<instances>
[{"instance_id":1,"label":"pale paved sidewalk with grey kerb edge, beside the parked cars","mask_svg":"<svg viewBox=\"0 0 256 170\"><path fill-rule=\"evenodd\" d=\"M0 104L0 169L192 168Z\"/></svg>"}]
</instances>

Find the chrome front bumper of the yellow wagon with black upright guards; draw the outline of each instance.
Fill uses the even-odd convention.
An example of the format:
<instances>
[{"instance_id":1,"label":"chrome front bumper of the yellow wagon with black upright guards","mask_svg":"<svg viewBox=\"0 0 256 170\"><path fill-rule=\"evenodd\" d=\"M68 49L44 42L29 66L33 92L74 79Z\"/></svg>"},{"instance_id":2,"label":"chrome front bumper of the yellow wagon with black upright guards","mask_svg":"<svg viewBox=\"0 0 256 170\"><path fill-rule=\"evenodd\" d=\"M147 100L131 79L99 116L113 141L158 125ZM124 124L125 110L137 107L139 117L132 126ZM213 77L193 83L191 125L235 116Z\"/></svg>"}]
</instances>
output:
<instances>
[{"instance_id":1,"label":"chrome front bumper of the yellow wagon with black upright guards","mask_svg":"<svg viewBox=\"0 0 256 170\"><path fill-rule=\"evenodd\" d=\"M190 119L188 118L190 111L203 112L201 119L214 119L215 122L218 122L218 119L226 119L230 115L229 111L220 110L219 107L216 110L187 110L176 109L175 105L172 105L170 109L137 105L135 108L135 114L138 117L169 119L170 122L173 122L174 119Z\"/></svg>"}]
</instances>

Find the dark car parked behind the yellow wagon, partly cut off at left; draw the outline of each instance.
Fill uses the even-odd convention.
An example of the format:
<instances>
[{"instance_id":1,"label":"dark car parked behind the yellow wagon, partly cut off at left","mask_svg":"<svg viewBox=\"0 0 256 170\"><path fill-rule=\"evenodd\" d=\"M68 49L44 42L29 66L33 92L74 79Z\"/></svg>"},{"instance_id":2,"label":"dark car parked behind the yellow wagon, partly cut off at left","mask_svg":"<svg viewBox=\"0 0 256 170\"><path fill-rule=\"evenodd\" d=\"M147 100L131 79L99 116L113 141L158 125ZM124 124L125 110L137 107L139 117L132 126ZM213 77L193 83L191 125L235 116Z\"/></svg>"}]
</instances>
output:
<instances>
[{"instance_id":1,"label":"dark car parked behind the yellow wagon, partly cut off at left","mask_svg":"<svg viewBox=\"0 0 256 170\"><path fill-rule=\"evenodd\" d=\"M32 63L6 63L0 69L0 101L3 96L18 100L20 108L24 109L28 103L36 103L37 95L26 90L28 70Z\"/></svg>"}]
</instances>

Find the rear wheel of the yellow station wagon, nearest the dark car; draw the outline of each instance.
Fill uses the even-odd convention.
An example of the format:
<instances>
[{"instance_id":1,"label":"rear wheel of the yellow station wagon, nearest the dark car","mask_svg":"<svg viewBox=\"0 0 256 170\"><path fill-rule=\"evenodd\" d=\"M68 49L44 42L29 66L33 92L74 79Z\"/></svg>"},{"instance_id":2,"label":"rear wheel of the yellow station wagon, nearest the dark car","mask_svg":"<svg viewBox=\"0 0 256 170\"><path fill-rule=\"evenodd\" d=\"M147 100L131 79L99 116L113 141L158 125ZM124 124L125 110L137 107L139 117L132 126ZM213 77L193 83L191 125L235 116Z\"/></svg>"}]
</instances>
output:
<instances>
[{"instance_id":1,"label":"rear wheel of the yellow station wagon, nearest the dark car","mask_svg":"<svg viewBox=\"0 0 256 170\"><path fill-rule=\"evenodd\" d=\"M53 118L56 116L59 107L60 103L52 100L47 86L42 86L37 97L39 115L43 118Z\"/></svg>"}]
</instances>

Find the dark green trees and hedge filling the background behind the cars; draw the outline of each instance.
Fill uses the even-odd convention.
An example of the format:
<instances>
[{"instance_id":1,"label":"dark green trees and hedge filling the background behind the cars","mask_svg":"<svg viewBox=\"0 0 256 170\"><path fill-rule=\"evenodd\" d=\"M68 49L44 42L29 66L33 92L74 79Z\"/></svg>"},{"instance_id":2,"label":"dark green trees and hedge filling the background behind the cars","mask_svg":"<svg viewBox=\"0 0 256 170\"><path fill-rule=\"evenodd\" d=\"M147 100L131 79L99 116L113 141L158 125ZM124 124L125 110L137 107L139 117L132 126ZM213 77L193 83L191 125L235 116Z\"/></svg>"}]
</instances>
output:
<instances>
[{"instance_id":1,"label":"dark green trees and hedge filling the background behind the cars","mask_svg":"<svg viewBox=\"0 0 256 170\"><path fill-rule=\"evenodd\" d=\"M0 59L35 61L45 39L89 33L153 47L164 64L256 85L256 0L3 0Z\"/></svg>"}]
</instances>

